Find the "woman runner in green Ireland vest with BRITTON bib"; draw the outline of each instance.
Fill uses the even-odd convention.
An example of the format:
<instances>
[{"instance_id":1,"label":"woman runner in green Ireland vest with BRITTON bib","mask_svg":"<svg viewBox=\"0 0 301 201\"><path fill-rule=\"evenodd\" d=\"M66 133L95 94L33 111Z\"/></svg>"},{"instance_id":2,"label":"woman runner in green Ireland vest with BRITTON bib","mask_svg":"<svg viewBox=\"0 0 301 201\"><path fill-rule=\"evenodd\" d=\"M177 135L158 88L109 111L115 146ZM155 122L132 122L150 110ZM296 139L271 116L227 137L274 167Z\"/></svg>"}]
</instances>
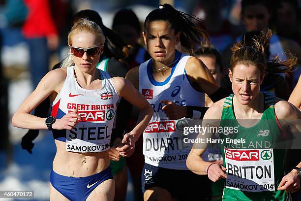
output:
<instances>
[{"instance_id":1,"label":"woman runner in green Ireland vest with BRITTON bib","mask_svg":"<svg viewBox=\"0 0 301 201\"><path fill-rule=\"evenodd\" d=\"M186 161L190 170L208 174L213 182L226 179L224 201L285 201L288 192L300 189L301 163L284 176L285 150L273 148L283 139L282 127L286 126L278 119L300 119L301 112L259 91L267 72L287 72L297 59L288 54L288 60L267 61L264 50L270 37L268 30L254 38L252 47L244 46L243 41L234 45L229 69L234 95L215 102L204 116L202 126L218 130L223 165L202 160L206 148L202 143L194 144ZM198 137L206 141L213 129L211 132Z\"/></svg>"}]
</instances>

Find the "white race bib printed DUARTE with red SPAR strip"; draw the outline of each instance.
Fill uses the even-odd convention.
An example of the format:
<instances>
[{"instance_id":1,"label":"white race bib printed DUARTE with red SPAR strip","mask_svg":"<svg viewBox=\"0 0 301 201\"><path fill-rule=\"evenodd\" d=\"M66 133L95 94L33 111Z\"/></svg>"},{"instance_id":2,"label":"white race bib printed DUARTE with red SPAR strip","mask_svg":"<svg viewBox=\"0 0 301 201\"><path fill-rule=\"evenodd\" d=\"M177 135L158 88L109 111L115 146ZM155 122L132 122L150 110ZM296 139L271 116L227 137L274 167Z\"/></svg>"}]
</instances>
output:
<instances>
[{"instance_id":1,"label":"white race bib printed DUARTE with red SPAR strip","mask_svg":"<svg viewBox=\"0 0 301 201\"><path fill-rule=\"evenodd\" d=\"M185 127L200 125L200 120L159 120L152 121L144 131L143 154L145 162L152 166L188 169L186 159L198 133L184 133ZM207 155L206 155L207 154ZM208 161L208 152L203 154L203 160Z\"/></svg>"}]
</instances>

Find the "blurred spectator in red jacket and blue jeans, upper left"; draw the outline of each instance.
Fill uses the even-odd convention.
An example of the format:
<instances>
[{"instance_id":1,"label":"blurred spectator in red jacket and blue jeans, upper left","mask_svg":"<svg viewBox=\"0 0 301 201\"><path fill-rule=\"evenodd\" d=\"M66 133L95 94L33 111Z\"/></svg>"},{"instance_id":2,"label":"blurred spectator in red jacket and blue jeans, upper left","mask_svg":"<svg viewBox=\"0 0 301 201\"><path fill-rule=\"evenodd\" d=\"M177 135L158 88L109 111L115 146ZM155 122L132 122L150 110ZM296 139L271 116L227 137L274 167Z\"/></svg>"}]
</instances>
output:
<instances>
[{"instance_id":1,"label":"blurred spectator in red jacket and blue jeans, upper left","mask_svg":"<svg viewBox=\"0 0 301 201\"><path fill-rule=\"evenodd\" d=\"M30 48L30 73L35 88L48 72L50 51L59 45L59 36L48 0L24 0L29 9L22 33Z\"/></svg>"}]
</instances>

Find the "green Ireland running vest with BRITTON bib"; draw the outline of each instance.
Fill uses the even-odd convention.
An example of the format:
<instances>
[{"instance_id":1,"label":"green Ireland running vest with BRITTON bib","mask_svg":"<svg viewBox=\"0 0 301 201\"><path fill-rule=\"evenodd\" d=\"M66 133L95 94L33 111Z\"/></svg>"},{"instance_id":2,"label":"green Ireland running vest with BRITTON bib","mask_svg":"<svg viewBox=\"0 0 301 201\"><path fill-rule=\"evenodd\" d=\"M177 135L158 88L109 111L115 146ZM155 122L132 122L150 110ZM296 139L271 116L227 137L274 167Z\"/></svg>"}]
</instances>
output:
<instances>
[{"instance_id":1,"label":"green Ireland running vest with BRITTON bib","mask_svg":"<svg viewBox=\"0 0 301 201\"><path fill-rule=\"evenodd\" d=\"M233 96L224 101L220 123L220 127L235 128L232 133L219 134L224 139L221 151L223 166L227 168L223 200L284 201L286 192L277 191L284 176L285 149L274 149L283 134L275 118L274 97L264 94L265 110L261 119L255 126L246 128L235 118Z\"/></svg>"}]
</instances>

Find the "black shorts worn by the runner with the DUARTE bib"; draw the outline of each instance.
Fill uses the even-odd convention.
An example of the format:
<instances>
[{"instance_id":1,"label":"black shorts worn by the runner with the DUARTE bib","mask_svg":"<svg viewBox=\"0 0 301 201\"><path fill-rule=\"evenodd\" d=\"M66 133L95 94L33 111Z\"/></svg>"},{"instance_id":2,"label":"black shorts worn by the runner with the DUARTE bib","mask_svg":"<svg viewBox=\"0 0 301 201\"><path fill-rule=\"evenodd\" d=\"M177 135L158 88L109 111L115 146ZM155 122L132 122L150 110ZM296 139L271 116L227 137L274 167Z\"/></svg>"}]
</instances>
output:
<instances>
[{"instance_id":1,"label":"black shorts worn by the runner with the DUARTE bib","mask_svg":"<svg viewBox=\"0 0 301 201\"><path fill-rule=\"evenodd\" d=\"M211 181L207 175L190 170L167 169L145 164L141 175L142 193L152 187L166 189L179 201L211 201Z\"/></svg>"}]
</instances>

